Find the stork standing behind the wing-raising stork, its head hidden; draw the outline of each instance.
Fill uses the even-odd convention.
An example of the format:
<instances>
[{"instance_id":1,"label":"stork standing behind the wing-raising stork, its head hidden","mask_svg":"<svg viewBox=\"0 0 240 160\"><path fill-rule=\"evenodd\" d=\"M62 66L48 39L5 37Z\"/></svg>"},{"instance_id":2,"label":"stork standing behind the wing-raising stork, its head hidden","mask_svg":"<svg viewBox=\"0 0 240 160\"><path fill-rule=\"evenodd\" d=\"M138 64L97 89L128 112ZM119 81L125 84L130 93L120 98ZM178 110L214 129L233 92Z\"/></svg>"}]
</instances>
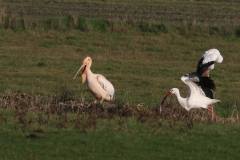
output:
<instances>
[{"instance_id":1,"label":"stork standing behind the wing-raising stork, its head hidden","mask_svg":"<svg viewBox=\"0 0 240 160\"><path fill-rule=\"evenodd\" d=\"M202 55L201 59L198 62L198 66L205 65L205 64L207 64L209 62L222 63L222 61L223 61L223 57L222 57L221 53L219 52L219 50L213 48L213 49L207 50ZM207 68L207 70L206 70L206 77L209 77L210 70L214 69L214 63Z\"/></svg>"}]
</instances>

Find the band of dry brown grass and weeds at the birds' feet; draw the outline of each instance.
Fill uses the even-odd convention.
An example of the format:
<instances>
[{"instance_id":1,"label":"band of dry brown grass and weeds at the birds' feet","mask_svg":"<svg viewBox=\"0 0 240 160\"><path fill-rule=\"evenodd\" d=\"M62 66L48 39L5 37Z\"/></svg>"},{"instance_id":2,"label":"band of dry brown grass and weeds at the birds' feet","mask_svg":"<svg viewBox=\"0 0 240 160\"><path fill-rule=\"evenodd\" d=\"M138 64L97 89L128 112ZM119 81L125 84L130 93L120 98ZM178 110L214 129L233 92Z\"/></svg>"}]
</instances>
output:
<instances>
[{"instance_id":1,"label":"band of dry brown grass and weeds at the birds' feet","mask_svg":"<svg viewBox=\"0 0 240 160\"><path fill-rule=\"evenodd\" d=\"M192 124L193 122L208 122L211 123L211 113L205 109L193 109L190 112L176 105L176 101L170 100L165 104L156 106L145 106L143 104L129 105L127 104L112 104L104 103L103 105L93 104L84 99L74 99L71 93L63 92L61 96L52 98L47 101L39 95L27 95L24 93L6 92L1 96L1 108L12 110L13 116L17 122L24 127L27 127L32 120L27 121L28 112L36 112L38 115L38 123L40 126L48 124L51 115L58 115L59 121L56 126L59 128L66 127L68 124L69 114L77 114L77 117L88 117L88 126L96 126L96 117L100 119L115 119L115 117L135 117L138 122L147 122L148 120L168 120L170 123L176 121L185 121ZM88 116L86 116L88 115ZM221 118L215 115L217 123L239 123L238 113L236 116ZM91 117L89 119L89 117ZM78 118L75 119L75 127L80 125ZM86 127L86 126L85 126Z\"/></svg>"}]
</instances>

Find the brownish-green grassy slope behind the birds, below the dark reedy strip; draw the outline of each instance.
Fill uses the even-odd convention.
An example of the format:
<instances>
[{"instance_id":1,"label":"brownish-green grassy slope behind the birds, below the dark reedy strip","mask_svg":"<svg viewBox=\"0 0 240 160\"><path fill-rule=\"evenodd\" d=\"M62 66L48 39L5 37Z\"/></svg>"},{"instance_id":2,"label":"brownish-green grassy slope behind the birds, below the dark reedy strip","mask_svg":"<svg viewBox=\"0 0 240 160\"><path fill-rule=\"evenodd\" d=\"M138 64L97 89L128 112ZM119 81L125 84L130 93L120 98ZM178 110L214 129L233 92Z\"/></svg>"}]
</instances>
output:
<instances>
[{"instance_id":1,"label":"brownish-green grassy slope behind the birds, below the dark reedy strip","mask_svg":"<svg viewBox=\"0 0 240 160\"><path fill-rule=\"evenodd\" d=\"M77 97L93 100L86 85L81 85L80 76L72 81L82 60L90 56L91 70L113 83L117 101L154 105L174 87L187 96L187 87L180 77L196 70L206 50L217 48L224 61L216 64L210 75L217 86L215 98L222 101L218 108L232 110L239 105L237 39L1 30L0 41L2 93L11 90L54 96L64 88Z\"/></svg>"}]
</instances>

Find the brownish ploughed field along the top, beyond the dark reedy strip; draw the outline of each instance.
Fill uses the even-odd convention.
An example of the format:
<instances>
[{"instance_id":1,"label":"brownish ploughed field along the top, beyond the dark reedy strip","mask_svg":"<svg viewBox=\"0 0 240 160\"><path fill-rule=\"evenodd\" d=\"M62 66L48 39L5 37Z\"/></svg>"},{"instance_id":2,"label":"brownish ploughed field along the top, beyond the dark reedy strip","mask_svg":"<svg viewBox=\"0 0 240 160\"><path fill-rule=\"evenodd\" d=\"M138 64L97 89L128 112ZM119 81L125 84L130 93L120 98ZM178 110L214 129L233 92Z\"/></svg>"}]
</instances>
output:
<instances>
[{"instance_id":1,"label":"brownish ploughed field along the top, beyond the dark reedy strip","mask_svg":"<svg viewBox=\"0 0 240 160\"><path fill-rule=\"evenodd\" d=\"M238 1L228 0L3 0L7 13L35 18L64 17L239 24Z\"/></svg>"}]
</instances>

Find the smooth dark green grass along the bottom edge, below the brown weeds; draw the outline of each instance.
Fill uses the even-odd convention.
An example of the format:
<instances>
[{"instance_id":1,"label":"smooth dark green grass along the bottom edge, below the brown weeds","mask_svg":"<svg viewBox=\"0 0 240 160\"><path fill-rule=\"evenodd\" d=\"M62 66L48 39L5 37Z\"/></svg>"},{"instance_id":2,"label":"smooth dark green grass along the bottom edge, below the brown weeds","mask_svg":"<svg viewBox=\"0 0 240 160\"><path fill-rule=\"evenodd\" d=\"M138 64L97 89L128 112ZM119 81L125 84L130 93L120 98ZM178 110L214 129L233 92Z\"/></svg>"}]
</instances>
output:
<instances>
[{"instance_id":1,"label":"smooth dark green grass along the bottom edge, below the brown weeds","mask_svg":"<svg viewBox=\"0 0 240 160\"><path fill-rule=\"evenodd\" d=\"M45 133L39 139L5 133L0 138L5 151L0 154L5 159L238 159L237 127L221 133L209 128L184 135L169 131L161 136L61 131Z\"/></svg>"}]
</instances>

